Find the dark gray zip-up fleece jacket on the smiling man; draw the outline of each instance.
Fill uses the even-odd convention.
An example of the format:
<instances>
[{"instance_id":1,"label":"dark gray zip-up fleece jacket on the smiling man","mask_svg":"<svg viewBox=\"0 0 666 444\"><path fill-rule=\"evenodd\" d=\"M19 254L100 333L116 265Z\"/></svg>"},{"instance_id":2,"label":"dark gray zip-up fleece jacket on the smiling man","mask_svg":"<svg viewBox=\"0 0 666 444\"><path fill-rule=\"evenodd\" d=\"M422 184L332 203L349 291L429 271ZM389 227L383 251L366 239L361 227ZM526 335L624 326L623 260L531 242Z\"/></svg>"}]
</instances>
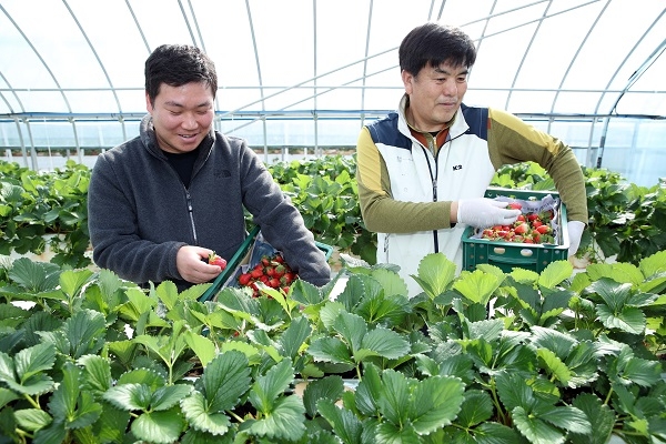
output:
<instances>
[{"instance_id":1,"label":"dark gray zip-up fleece jacket on the smiling man","mask_svg":"<svg viewBox=\"0 0 666 444\"><path fill-rule=\"evenodd\" d=\"M243 139L211 131L185 189L155 142L152 118L140 135L102 154L88 190L93 261L120 278L191 286L175 266L178 250L199 245L228 261L245 239L244 210L299 276L315 285L331 269L297 209Z\"/></svg>"}]
</instances>

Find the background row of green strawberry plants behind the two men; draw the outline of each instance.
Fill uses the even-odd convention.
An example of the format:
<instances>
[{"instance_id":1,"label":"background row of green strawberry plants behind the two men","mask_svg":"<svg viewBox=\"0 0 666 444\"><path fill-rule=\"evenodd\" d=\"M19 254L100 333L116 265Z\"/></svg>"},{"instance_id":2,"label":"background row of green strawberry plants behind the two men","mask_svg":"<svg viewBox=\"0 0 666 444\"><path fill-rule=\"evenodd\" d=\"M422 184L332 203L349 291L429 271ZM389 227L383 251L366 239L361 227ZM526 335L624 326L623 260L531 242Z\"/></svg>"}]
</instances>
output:
<instances>
[{"instance_id":1,"label":"background row of green strawberry plants behind the two men","mask_svg":"<svg viewBox=\"0 0 666 444\"><path fill-rule=\"evenodd\" d=\"M376 235L365 229L354 180L354 157L330 155L269 167L275 181L299 208L315 239L374 263ZM666 249L666 183L638 186L603 169L583 169L589 221L578 255L638 264ZM38 173L0 162L0 254L40 254L51 243L52 262L73 268L90 264L87 191L91 171L70 161L65 168ZM502 168L492 185L555 190L535 163ZM249 225L251 221L249 219ZM44 240L44 234L57 238Z\"/></svg>"}]
</instances>

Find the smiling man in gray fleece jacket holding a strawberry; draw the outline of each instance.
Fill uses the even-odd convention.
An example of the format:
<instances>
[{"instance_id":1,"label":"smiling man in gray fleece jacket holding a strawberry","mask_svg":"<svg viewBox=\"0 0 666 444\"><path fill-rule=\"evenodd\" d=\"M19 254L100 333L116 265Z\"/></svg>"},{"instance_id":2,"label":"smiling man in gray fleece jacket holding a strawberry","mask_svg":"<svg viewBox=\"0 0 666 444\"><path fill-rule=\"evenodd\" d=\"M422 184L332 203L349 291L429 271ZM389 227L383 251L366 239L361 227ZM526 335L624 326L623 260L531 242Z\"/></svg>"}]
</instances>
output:
<instances>
[{"instance_id":1,"label":"smiling man in gray fleece jacket holding a strawberry","mask_svg":"<svg viewBox=\"0 0 666 444\"><path fill-rule=\"evenodd\" d=\"M145 62L149 114L140 134L97 159L88 190L93 260L120 278L182 291L222 271L246 236L246 209L265 240L315 285L331 269L303 218L243 139L213 130L215 67L191 46Z\"/></svg>"}]
</instances>

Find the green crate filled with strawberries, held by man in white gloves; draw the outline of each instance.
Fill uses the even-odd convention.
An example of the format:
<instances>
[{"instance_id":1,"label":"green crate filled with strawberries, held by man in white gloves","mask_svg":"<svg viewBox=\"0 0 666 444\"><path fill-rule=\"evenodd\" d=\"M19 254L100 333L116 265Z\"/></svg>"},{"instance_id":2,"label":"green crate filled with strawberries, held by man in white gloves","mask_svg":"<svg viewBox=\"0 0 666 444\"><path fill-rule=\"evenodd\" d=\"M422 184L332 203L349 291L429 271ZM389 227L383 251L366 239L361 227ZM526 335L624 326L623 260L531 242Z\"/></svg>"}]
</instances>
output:
<instances>
[{"instance_id":1,"label":"green crate filled with strawberries, held by man in white gloves","mask_svg":"<svg viewBox=\"0 0 666 444\"><path fill-rule=\"evenodd\" d=\"M491 188L486 198L522 211L511 225L467 228L463 234L463 270L490 263L505 272L523 268L541 272L568 252L566 208L553 191Z\"/></svg>"}]
</instances>

